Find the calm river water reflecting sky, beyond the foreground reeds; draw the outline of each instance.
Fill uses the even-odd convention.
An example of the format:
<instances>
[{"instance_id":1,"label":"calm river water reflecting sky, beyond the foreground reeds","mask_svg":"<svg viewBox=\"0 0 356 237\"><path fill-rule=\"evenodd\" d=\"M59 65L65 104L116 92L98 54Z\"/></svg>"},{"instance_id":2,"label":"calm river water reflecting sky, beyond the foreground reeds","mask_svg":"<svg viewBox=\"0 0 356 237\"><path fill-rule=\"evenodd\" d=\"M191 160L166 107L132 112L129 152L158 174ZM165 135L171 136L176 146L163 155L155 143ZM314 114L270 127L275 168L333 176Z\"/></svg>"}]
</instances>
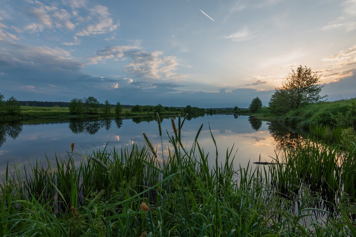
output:
<instances>
[{"instance_id":1,"label":"calm river water reflecting sky, beyond the foreground reeds","mask_svg":"<svg viewBox=\"0 0 356 237\"><path fill-rule=\"evenodd\" d=\"M53 160L57 157L67 159L70 144L75 142L75 150L84 154L86 151L103 149L107 144L109 148L131 146L136 143L145 145L142 132L145 132L151 143L158 147L158 155L162 156L161 138L159 137L157 122L153 117L133 119L102 119L102 120L69 120L65 122L48 123L2 123L0 124L0 173L4 172L6 162L9 164L28 164L36 159ZM161 118L162 119L162 118ZM146 120L146 121L145 121ZM178 126L178 119L176 124ZM215 164L215 147L211 132L218 146L218 159L225 160L226 150L234 145L232 154L235 154L235 168L246 166L248 161L272 161L275 151L278 153L282 144L293 143L297 134L283 129L278 123L263 122L256 118L236 115L205 115L191 118L184 122L182 128L182 143L190 147L201 124L198 142L206 152L209 152L211 164ZM166 129L173 134L171 120L163 118L162 138L164 156L168 153ZM79 162L79 161L78 161ZM220 163L220 162L219 162Z\"/></svg>"}]
</instances>

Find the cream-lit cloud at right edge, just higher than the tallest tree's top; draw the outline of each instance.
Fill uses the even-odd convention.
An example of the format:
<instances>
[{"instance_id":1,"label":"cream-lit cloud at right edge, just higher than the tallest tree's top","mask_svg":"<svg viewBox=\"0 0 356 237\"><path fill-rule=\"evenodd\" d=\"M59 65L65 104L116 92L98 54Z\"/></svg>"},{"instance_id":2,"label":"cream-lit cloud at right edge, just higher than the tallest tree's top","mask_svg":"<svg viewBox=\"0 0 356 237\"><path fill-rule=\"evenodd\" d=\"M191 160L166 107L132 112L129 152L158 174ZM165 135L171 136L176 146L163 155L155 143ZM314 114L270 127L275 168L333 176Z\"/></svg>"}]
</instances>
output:
<instances>
[{"instance_id":1,"label":"cream-lit cloud at right edge, just higher than the tallest tree's top","mask_svg":"<svg viewBox=\"0 0 356 237\"><path fill-rule=\"evenodd\" d=\"M356 64L356 45L349 49L342 50L337 54L329 57L324 57L323 61L331 62L331 66L334 68L341 68L347 65Z\"/></svg>"}]
</instances>

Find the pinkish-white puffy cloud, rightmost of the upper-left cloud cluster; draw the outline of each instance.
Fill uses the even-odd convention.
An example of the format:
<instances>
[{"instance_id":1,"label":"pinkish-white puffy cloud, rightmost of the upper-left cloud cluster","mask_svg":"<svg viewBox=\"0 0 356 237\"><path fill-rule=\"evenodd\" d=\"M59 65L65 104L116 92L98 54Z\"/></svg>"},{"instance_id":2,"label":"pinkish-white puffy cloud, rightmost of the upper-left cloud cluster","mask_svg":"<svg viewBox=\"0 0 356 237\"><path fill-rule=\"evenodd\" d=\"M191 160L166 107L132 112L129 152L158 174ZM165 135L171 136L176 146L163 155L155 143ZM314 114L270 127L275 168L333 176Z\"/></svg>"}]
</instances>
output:
<instances>
[{"instance_id":1,"label":"pinkish-white puffy cloud, rightmost of the upper-left cloud cluster","mask_svg":"<svg viewBox=\"0 0 356 237\"><path fill-rule=\"evenodd\" d=\"M78 32L76 35L86 36L91 34L104 34L112 32L120 26L119 21L115 24L114 20L109 17L110 13L105 6L96 5L94 8L89 9L89 11L92 16L95 16L98 19L98 23L89 24L86 29L82 29L82 31Z\"/></svg>"}]
</instances>

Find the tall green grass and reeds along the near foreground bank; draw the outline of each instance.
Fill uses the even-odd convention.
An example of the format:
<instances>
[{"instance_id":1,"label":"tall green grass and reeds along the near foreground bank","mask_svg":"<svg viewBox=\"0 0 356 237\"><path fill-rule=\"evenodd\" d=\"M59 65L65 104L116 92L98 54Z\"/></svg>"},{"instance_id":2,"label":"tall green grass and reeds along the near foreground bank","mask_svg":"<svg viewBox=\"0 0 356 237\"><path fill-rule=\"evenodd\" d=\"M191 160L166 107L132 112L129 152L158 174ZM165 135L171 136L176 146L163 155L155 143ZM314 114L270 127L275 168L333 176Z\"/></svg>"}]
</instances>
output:
<instances>
[{"instance_id":1,"label":"tall green grass and reeds along the near foreground bank","mask_svg":"<svg viewBox=\"0 0 356 237\"><path fill-rule=\"evenodd\" d=\"M183 145L184 122L172 119L166 153L143 133L142 149L77 154L73 143L54 165L7 165L0 236L356 236L356 149L306 139L234 170L234 148L208 163L203 125Z\"/></svg>"}]
</instances>

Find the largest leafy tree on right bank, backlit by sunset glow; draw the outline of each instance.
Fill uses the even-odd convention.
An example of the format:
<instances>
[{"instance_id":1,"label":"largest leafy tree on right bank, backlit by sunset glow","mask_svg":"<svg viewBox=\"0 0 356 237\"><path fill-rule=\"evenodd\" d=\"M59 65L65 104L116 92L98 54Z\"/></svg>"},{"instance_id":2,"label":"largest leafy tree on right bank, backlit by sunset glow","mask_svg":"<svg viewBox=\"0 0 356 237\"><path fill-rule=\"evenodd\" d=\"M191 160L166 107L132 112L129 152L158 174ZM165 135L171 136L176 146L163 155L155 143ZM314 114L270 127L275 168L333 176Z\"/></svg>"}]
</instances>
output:
<instances>
[{"instance_id":1,"label":"largest leafy tree on right bank, backlit by sunset glow","mask_svg":"<svg viewBox=\"0 0 356 237\"><path fill-rule=\"evenodd\" d=\"M321 75L317 73L302 65L296 71L292 69L292 72L284 78L282 87L276 88L268 103L272 112L280 114L304 104L319 102L327 97L327 95L320 96L321 88L324 86L318 84Z\"/></svg>"}]
</instances>

